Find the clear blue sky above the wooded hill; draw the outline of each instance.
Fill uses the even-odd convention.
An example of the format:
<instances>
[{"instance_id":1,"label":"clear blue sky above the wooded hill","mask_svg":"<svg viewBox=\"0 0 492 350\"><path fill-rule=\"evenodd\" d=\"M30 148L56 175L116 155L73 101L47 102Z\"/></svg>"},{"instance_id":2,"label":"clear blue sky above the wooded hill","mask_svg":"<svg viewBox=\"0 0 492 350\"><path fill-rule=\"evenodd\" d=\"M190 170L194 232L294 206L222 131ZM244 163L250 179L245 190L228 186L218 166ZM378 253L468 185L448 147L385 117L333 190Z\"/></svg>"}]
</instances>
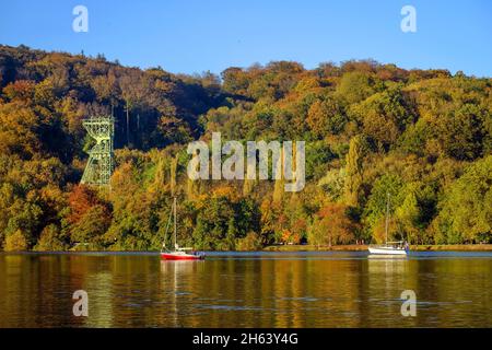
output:
<instances>
[{"instance_id":1,"label":"clear blue sky above the wooded hill","mask_svg":"<svg viewBox=\"0 0 492 350\"><path fill-rule=\"evenodd\" d=\"M78 4L89 10L89 33L72 31ZM406 4L417 9L417 33L400 30ZM176 73L373 58L492 77L492 1L0 0L0 44Z\"/></svg>"}]
</instances>

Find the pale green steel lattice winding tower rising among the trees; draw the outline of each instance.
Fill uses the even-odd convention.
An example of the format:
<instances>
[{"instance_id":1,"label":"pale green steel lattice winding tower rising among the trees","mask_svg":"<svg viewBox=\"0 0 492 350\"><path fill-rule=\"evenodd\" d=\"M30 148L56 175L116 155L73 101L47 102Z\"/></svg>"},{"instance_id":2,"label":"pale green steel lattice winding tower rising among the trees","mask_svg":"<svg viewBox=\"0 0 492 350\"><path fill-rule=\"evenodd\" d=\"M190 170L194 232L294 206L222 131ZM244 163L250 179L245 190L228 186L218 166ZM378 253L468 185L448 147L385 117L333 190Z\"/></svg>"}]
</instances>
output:
<instances>
[{"instance_id":1,"label":"pale green steel lattice winding tower rising among the trees","mask_svg":"<svg viewBox=\"0 0 492 350\"><path fill-rule=\"evenodd\" d=\"M82 125L96 144L89 151L89 161L81 183L96 186L109 185L114 170L115 119L110 116L96 116L83 120Z\"/></svg>"}]
</instances>

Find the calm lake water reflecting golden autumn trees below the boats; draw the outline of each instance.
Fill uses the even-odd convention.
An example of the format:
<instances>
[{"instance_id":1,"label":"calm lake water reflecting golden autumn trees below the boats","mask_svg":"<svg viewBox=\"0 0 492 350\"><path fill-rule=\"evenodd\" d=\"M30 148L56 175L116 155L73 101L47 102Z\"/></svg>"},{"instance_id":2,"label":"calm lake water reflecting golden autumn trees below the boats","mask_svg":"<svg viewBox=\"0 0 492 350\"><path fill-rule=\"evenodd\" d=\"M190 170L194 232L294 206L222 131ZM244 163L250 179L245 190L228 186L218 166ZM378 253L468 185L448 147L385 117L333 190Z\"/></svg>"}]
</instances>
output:
<instances>
[{"instance_id":1,"label":"calm lake water reflecting golden autumn trees below the boats","mask_svg":"<svg viewBox=\"0 0 492 350\"><path fill-rule=\"evenodd\" d=\"M77 290L87 317L72 313ZM0 327L60 326L491 327L492 254L0 254Z\"/></svg>"}]
</instances>

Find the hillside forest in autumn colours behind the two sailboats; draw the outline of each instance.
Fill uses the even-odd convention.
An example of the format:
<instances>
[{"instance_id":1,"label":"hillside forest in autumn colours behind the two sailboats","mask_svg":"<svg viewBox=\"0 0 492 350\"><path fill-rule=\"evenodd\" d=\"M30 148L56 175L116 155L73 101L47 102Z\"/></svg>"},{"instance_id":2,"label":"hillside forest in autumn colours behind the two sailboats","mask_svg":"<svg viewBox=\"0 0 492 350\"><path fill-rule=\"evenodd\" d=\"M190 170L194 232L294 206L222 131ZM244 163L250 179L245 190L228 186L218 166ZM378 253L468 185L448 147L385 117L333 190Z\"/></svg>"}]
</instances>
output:
<instances>
[{"instance_id":1,"label":"hillside forest in autumn colours behind the two sailboats","mask_svg":"<svg viewBox=\"0 0 492 350\"><path fill-rule=\"evenodd\" d=\"M116 118L109 189L79 185L91 115ZM188 142L306 141L306 187L198 180ZM492 79L371 60L180 75L0 46L0 247L256 249L384 240L492 242Z\"/></svg>"}]
</instances>

